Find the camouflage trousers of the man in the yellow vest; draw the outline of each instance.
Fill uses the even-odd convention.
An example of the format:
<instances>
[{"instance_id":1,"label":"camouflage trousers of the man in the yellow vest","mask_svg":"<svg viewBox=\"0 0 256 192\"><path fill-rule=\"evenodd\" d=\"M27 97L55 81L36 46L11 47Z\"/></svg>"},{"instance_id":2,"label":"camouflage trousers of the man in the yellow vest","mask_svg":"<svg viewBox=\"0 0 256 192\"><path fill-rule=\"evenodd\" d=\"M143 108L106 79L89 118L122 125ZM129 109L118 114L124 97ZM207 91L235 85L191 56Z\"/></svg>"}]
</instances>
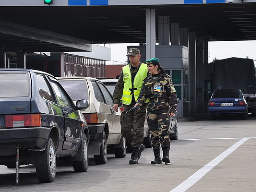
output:
<instances>
[{"instance_id":1,"label":"camouflage trousers of the man in the yellow vest","mask_svg":"<svg viewBox=\"0 0 256 192\"><path fill-rule=\"evenodd\" d=\"M146 105L141 106L138 111L129 111L134 105L135 103L124 105L120 117L121 133L126 142L131 144L132 147L139 147L143 143ZM129 112L126 113L127 111Z\"/></svg>"}]
</instances>

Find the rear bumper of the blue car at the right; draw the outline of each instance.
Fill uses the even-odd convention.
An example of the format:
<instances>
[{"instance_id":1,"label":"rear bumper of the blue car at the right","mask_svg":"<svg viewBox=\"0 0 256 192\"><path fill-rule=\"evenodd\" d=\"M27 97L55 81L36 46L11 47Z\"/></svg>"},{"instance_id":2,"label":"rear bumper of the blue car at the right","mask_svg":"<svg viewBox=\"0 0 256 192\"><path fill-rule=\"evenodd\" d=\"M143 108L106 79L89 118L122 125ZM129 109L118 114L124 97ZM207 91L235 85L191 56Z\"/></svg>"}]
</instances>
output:
<instances>
[{"instance_id":1,"label":"rear bumper of the blue car at the right","mask_svg":"<svg viewBox=\"0 0 256 192\"><path fill-rule=\"evenodd\" d=\"M208 107L209 114L245 114L248 112L248 107Z\"/></svg>"}]
</instances>

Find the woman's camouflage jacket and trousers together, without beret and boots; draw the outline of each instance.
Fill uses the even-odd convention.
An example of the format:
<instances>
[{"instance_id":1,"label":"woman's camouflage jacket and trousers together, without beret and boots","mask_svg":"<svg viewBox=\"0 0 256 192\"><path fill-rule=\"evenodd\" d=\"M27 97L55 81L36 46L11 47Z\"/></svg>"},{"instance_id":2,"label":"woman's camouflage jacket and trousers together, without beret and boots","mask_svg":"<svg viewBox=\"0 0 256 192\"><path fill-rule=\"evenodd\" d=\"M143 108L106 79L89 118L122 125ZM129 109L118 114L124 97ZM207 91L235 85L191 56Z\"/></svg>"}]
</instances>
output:
<instances>
[{"instance_id":1,"label":"woman's camouflage jacket and trousers together, without beret and boots","mask_svg":"<svg viewBox=\"0 0 256 192\"><path fill-rule=\"evenodd\" d=\"M169 113L175 112L178 105L171 77L165 73L160 73L158 76L148 75L144 79L137 103L143 105L146 99L149 99L147 120L153 150L159 149L160 145L169 147Z\"/></svg>"}]
</instances>

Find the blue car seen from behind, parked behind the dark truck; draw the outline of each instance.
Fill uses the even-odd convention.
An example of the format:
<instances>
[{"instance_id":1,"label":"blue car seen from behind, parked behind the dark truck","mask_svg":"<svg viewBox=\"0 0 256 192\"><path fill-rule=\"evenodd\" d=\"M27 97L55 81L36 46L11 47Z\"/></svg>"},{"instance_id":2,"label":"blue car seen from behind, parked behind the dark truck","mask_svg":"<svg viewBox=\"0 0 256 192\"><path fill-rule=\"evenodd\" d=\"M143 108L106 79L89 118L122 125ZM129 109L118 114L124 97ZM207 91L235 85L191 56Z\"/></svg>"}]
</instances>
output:
<instances>
[{"instance_id":1,"label":"blue car seen from behind, parked behind the dark truck","mask_svg":"<svg viewBox=\"0 0 256 192\"><path fill-rule=\"evenodd\" d=\"M240 115L248 119L248 105L240 89L215 90L208 103L209 120L220 115Z\"/></svg>"}]
</instances>

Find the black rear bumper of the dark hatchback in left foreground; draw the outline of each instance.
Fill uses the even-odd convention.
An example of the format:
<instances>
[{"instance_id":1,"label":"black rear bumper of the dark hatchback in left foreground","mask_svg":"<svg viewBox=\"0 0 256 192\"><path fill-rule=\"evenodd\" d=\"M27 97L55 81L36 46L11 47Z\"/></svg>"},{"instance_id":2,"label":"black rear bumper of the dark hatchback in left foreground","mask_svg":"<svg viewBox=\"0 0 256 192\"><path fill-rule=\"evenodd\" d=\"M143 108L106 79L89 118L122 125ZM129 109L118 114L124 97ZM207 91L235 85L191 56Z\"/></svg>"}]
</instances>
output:
<instances>
[{"instance_id":1,"label":"black rear bumper of the dark hatchback in left foreground","mask_svg":"<svg viewBox=\"0 0 256 192\"><path fill-rule=\"evenodd\" d=\"M2 128L0 129L0 149L16 148L43 150L51 128Z\"/></svg>"}]
</instances>

